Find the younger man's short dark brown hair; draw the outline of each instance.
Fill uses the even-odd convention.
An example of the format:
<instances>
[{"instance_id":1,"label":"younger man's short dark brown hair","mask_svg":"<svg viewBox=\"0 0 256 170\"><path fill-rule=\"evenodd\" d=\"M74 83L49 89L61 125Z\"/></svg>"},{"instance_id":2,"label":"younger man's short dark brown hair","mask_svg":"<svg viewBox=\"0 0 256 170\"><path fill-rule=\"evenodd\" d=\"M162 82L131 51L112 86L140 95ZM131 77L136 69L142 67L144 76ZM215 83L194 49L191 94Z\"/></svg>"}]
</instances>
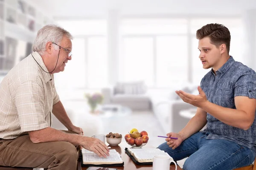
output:
<instances>
[{"instance_id":1,"label":"younger man's short dark brown hair","mask_svg":"<svg viewBox=\"0 0 256 170\"><path fill-rule=\"evenodd\" d=\"M196 38L198 40L204 37L209 37L213 45L218 47L221 44L225 44L227 48L227 54L230 51L230 31L222 24L207 24L196 31Z\"/></svg>"}]
</instances>

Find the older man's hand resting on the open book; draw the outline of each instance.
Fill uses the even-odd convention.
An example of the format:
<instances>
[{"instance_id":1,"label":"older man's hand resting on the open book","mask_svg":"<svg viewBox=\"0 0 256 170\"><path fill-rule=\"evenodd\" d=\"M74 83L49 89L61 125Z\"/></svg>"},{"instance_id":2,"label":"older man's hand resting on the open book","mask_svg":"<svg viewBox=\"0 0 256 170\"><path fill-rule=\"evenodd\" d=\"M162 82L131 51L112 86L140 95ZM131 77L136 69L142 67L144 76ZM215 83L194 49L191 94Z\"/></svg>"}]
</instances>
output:
<instances>
[{"instance_id":1,"label":"older man's hand resting on the open book","mask_svg":"<svg viewBox=\"0 0 256 170\"><path fill-rule=\"evenodd\" d=\"M96 138L83 137L82 147L96 153L99 157L109 156L109 149L105 143ZM106 156L107 155L107 156Z\"/></svg>"}]
</instances>

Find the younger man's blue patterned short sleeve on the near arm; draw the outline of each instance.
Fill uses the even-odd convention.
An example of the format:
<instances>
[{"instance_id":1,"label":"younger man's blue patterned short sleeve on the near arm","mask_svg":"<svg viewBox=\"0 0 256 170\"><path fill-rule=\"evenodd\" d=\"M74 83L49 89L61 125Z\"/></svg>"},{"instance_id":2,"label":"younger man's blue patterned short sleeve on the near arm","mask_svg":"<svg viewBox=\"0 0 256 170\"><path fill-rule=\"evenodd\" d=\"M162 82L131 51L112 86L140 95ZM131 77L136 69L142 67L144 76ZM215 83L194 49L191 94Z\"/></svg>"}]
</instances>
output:
<instances>
[{"instance_id":1,"label":"younger man's blue patterned short sleeve on the near arm","mask_svg":"<svg viewBox=\"0 0 256 170\"><path fill-rule=\"evenodd\" d=\"M234 97L247 96L256 99L256 75L244 74L235 83Z\"/></svg>"}]
</instances>

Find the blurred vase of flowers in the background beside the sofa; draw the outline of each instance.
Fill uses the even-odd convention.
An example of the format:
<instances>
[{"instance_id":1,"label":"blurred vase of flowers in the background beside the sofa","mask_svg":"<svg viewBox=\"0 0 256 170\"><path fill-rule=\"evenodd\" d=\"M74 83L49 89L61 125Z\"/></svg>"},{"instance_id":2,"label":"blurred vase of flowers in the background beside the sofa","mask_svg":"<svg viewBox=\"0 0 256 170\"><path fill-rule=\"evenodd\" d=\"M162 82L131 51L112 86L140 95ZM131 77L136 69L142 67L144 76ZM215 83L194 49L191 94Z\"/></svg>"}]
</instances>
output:
<instances>
[{"instance_id":1,"label":"blurred vase of flowers in the background beside the sofa","mask_svg":"<svg viewBox=\"0 0 256 170\"><path fill-rule=\"evenodd\" d=\"M95 109L97 108L97 105L102 103L103 96L100 93L95 94L85 94L85 97L87 98L87 103L90 106L91 113L95 113Z\"/></svg>"}]
</instances>

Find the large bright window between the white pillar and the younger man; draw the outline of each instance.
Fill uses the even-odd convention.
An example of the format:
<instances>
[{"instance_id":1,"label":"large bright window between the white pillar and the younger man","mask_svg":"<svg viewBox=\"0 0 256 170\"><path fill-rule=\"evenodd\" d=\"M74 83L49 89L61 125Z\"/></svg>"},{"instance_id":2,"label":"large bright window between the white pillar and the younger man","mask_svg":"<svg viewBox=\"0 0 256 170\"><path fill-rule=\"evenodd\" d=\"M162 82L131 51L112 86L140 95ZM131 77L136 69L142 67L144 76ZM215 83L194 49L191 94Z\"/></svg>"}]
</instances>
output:
<instances>
[{"instance_id":1,"label":"large bright window between the white pillar and the younger man","mask_svg":"<svg viewBox=\"0 0 256 170\"><path fill-rule=\"evenodd\" d=\"M124 19L120 28L121 81L140 79L149 87L170 87L187 80L187 20Z\"/></svg>"}]
</instances>

